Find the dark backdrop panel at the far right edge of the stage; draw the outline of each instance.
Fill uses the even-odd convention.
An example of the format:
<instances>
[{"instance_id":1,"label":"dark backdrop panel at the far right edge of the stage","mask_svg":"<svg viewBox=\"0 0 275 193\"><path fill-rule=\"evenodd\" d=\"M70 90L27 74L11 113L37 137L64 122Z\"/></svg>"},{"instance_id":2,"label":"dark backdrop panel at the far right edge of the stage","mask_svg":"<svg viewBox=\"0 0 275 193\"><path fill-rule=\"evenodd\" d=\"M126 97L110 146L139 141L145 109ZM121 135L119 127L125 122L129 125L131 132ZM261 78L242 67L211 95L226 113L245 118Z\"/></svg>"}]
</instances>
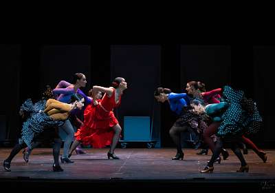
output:
<instances>
[{"instance_id":1,"label":"dark backdrop panel at the far right edge of the stage","mask_svg":"<svg viewBox=\"0 0 275 193\"><path fill-rule=\"evenodd\" d=\"M262 147L274 148L275 144L275 103L274 63L275 46L254 46L253 48L253 88L254 99L263 115L264 130L253 136Z\"/></svg>"}]
</instances>

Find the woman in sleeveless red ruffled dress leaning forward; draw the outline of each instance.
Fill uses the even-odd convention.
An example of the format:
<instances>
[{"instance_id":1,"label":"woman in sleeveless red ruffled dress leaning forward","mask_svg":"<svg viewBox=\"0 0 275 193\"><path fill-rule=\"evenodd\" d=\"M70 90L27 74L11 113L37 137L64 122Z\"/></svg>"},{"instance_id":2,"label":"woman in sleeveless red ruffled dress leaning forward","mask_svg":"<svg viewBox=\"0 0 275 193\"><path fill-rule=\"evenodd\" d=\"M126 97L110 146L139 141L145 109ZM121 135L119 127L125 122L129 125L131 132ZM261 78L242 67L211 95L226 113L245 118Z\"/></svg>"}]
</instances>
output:
<instances>
[{"instance_id":1,"label":"woman in sleeveless red ruffled dress leaning forward","mask_svg":"<svg viewBox=\"0 0 275 193\"><path fill-rule=\"evenodd\" d=\"M83 143L92 145L93 148L104 148L110 146L107 154L108 159L119 159L115 156L114 150L120 139L121 127L113 114L113 108L118 108L121 101L122 92L127 88L125 79L118 77L112 83L113 87L104 88L101 86L93 87L93 99L96 99L98 91L104 92L102 100L93 100L84 112L84 125L78 129L74 135L76 140L72 144L69 156L74 149Z\"/></svg>"}]
</instances>

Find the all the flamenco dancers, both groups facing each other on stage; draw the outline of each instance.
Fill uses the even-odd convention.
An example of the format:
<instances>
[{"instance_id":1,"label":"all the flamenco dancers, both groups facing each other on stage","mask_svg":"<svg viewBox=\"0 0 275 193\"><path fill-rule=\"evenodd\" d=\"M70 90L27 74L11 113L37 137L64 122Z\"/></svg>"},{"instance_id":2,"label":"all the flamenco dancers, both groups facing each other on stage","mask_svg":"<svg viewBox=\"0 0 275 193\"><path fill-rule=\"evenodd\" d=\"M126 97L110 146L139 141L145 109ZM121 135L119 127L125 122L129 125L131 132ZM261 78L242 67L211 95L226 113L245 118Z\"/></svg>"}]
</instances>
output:
<instances>
[{"instance_id":1,"label":"all the flamenco dancers, both groups facing each other on stage","mask_svg":"<svg viewBox=\"0 0 275 193\"><path fill-rule=\"evenodd\" d=\"M120 139L122 128L115 118L113 108L118 108L121 96L127 88L124 78L117 77L111 87L95 85L86 96L80 88L87 84L85 74L76 73L72 83L60 81L52 90L47 86L40 101L33 103L28 99L21 105L19 114L25 119L21 138L14 146L10 155L3 161L6 171L11 171L10 165L14 156L22 149L23 159L29 161L32 150L39 144L39 137L48 134L53 142L54 172L62 172L59 163L61 150L60 132L66 136L63 145L61 163L74 163L70 159L72 153L85 153L80 144L91 145L93 148L110 146L108 159L120 159L114 150ZM102 94L104 96L102 97ZM154 97L159 102L168 101L170 110L175 112L177 121L170 128L169 134L173 139L177 153L173 160L184 159L181 148L181 132L192 132L203 143L198 154L208 151L212 157L201 173L212 172L214 163L221 163L229 154L223 148L225 141L230 141L231 149L241 161L241 167L236 172L248 172L249 166L239 148L240 144L250 146L263 160L267 155L259 150L247 138L261 129L262 118L252 99L247 99L241 90L234 90L228 85L206 92L205 84L200 81L190 81L186 84L186 92L174 93L168 88L157 88ZM50 133L50 135L49 135ZM73 143L72 143L73 142Z\"/></svg>"}]
</instances>

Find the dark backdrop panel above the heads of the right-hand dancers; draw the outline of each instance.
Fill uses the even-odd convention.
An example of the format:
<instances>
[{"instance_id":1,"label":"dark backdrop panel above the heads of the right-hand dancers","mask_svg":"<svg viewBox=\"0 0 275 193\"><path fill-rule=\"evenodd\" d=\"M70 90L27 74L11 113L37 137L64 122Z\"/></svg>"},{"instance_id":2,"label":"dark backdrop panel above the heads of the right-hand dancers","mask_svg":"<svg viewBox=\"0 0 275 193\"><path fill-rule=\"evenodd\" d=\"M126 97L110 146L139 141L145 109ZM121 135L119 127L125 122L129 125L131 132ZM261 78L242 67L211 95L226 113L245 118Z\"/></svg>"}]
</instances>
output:
<instances>
[{"instance_id":1,"label":"dark backdrop panel above the heads of the right-hand dancers","mask_svg":"<svg viewBox=\"0 0 275 193\"><path fill-rule=\"evenodd\" d=\"M202 81L206 90L221 88L231 79L231 48L226 45L181 45L181 88Z\"/></svg>"}]
</instances>

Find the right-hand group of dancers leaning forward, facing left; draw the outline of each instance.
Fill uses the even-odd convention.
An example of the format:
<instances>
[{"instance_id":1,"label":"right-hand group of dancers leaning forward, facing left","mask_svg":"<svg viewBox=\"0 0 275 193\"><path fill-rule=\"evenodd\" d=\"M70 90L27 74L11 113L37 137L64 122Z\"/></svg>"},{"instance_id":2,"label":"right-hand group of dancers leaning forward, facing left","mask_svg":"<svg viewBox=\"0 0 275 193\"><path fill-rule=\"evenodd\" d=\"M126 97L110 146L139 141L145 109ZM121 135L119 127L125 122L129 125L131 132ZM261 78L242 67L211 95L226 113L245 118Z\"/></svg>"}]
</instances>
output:
<instances>
[{"instance_id":1,"label":"right-hand group of dancers leaning forward, facing left","mask_svg":"<svg viewBox=\"0 0 275 193\"><path fill-rule=\"evenodd\" d=\"M247 99L243 91L225 85L206 92L204 83L190 81L186 84L186 93L178 94L168 88L157 88L154 95L159 102L168 101L170 110L177 115L177 121L169 131L177 147L173 160L184 159L181 132L194 132L212 151L212 157L201 173L212 172L214 163L221 163L220 154L224 160L228 158L229 154L223 148L225 142L230 142L231 150L241 161L241 167L236 172L249 170L239 148L242 143L250 146L264 163L267 161L266 153L247 137L261 130L263 120L256 103Z\"/></svg>"}]
</instances>

